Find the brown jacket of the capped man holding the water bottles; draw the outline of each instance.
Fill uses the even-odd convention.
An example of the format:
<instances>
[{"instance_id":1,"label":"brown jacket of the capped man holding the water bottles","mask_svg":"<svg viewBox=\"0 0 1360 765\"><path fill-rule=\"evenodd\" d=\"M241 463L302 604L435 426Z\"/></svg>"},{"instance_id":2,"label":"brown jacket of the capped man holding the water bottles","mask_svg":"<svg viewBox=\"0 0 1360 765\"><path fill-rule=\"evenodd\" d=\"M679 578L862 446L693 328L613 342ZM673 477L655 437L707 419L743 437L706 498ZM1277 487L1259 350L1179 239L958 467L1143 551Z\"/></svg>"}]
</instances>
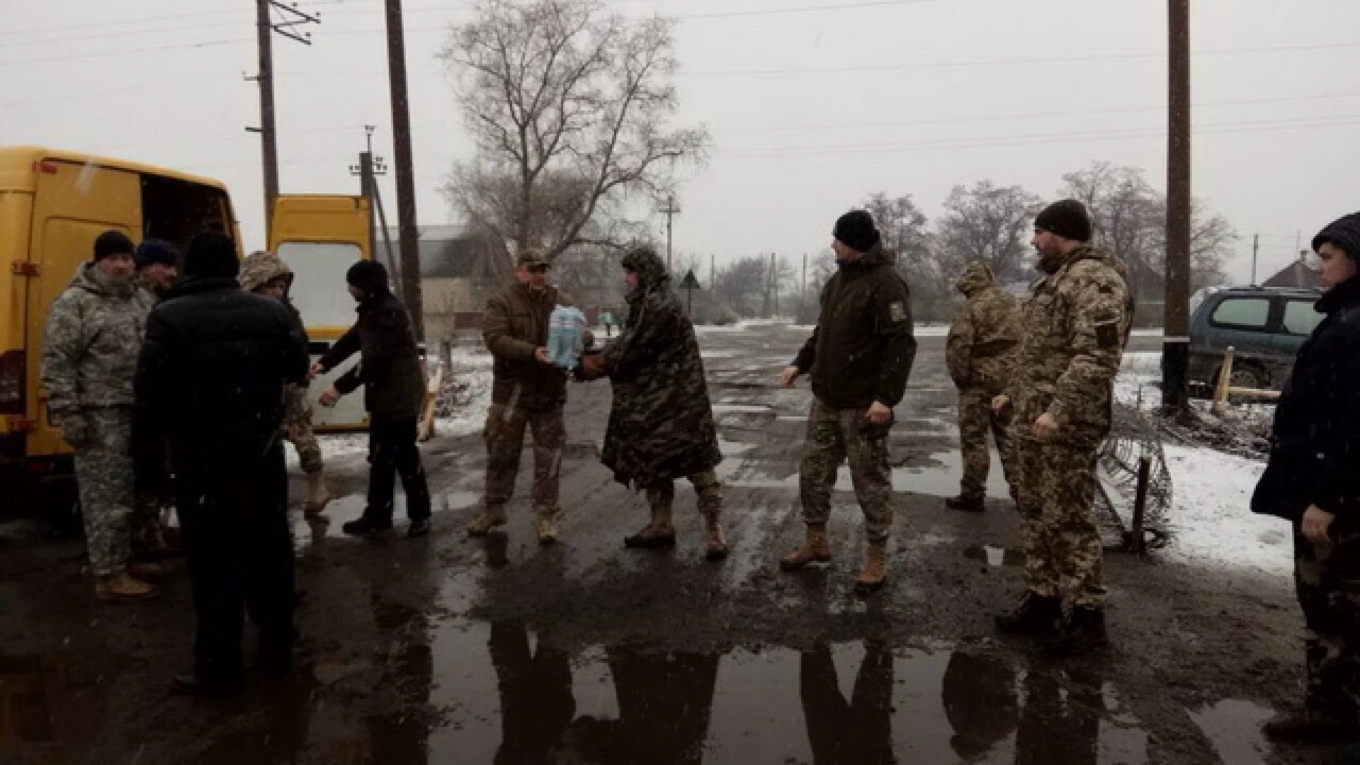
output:
<instances>
[{"instance_id":1,"label":"brown jacket of the capped man holding the water bottles","mask_svg":"<svg viewBox=\"0 0 1360 765\"><path fill-rule=\"evenodd\" d=\"M559 305L575 302L558 287L534 294L518 283L487 299L481 338L495 357L491 370L491 399L495 403L514 403L530 410L548 410L566 403L566 376L533 355L534 350L548 344L548 320Z\"/></svg>"}]
</instances>

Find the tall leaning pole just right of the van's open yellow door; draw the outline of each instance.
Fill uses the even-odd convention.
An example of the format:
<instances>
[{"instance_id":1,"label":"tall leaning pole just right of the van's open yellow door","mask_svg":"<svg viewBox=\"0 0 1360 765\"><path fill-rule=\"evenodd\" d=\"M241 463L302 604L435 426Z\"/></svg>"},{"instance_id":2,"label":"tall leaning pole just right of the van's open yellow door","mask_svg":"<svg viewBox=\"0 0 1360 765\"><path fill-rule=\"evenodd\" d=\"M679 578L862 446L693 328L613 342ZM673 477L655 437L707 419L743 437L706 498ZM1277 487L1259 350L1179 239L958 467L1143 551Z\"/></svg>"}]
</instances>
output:
<instances>
[{"instance_id":1,"label":"tall leaning pole just right of the van's open yellow door","mask_svg":"<svg viewBox=\"0 0 1360 765\"><path fill-rule=\"evenodd\" d=\"M407 304L416 339L424 340L420 298L420 230L416 225L415 158L411 150L411 103L407 95L407 42L401 0L388 4L388 76L392 87L392 143L397 161L397 229L401 240L401 301Z\"/></svg>"}]
</instances>

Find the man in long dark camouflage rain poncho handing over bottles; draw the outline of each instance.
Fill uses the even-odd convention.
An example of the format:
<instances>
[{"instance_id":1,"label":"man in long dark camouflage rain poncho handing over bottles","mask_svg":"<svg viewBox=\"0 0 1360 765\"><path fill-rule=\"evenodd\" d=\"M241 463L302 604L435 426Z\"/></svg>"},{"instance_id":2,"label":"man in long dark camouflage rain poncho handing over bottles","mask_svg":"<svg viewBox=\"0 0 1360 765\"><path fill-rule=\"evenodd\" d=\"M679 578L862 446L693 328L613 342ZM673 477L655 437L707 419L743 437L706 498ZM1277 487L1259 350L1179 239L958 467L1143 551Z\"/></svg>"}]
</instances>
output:
<instances>
[{"instance_id":1,"label":"man in long dark camouflage rain poncho handing over bottles","mask_svg":"<svg viewBox=\"0 0 1360 765\"><path fill-rule=\"evenodd\" d=\"M600 460L615 481L646 491L651 521L626 538L627 547L675 547L670 508L675 481L688 478L707 523L707 558L728 557L722 530L722 461L703 358L684 305L670 289L666 265L651 249L623 259L628 319L602 354L586 355L588 378L608 374L613 407Z\"/></svg>"}]
</instances>

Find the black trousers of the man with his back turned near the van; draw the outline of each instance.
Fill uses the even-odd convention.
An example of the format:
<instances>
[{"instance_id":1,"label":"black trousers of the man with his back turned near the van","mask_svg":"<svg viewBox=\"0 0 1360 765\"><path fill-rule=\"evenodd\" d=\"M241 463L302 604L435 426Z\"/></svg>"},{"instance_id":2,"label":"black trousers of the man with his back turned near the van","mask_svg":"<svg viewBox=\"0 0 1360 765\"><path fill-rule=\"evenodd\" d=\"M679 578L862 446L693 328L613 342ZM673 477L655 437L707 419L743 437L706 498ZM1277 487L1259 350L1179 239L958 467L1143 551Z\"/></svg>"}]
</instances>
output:
<instances>
[{"instance_id":1,"label":"black trousers of the man with his back turned near the van","mask_svg":"<svg viewBox=\"0 0 1360 765\"><path fill-rule=\"evenodd\" d=\"M260 630L261 664L286 668L296 595L282 444L241 467L185 471L177 478L199 678L230 682L242 674L246 614Z\"/></svg>"}]
</instances>

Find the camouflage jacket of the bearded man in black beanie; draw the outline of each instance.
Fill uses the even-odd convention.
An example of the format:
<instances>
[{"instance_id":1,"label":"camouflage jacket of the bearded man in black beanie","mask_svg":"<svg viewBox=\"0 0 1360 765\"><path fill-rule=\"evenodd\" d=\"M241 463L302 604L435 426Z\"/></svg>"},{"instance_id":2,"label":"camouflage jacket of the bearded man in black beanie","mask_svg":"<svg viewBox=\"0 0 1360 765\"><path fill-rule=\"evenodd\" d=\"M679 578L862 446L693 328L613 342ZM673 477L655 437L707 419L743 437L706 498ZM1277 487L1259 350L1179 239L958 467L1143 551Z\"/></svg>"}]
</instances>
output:
<instances>
[{"instance_id":1,"label":"camouflage jacket of the bearded man in black beanie","mask_svg":"<svg viewBox=\"0 0 1360 765\"><path fill-rule=\"evenodd\" d=\"M1059 437L1104 438L1132 324L1127 271L1100 249L1084 245L1038 280L1021 309L1020 353L1008 387L1017 422L1049 412L1065 432Z\"/></svg>"}]
</instances>

